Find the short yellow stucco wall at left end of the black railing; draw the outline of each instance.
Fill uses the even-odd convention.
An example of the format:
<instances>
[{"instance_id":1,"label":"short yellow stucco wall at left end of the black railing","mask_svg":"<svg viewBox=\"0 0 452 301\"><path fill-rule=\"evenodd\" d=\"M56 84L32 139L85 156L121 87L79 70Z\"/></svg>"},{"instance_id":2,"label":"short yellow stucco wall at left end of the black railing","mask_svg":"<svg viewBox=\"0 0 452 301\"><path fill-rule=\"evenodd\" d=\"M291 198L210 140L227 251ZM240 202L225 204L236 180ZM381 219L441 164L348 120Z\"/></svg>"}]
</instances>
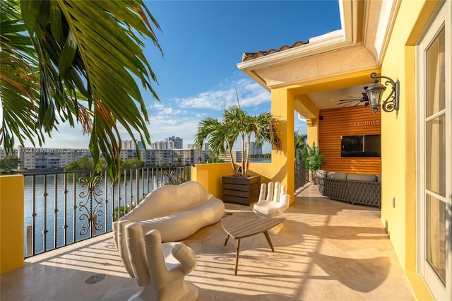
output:
<instances>
[{"instance_id":1,"label":"short yellow stucco wall at left end of the black railing","mask_svg":"<svg viewBox=\"0 0 452 301\"><path fill-rule=\"evenodd\" d=\"M0 273L23 266L23 176L0 176Z\"/></svg>"}]
</instances>

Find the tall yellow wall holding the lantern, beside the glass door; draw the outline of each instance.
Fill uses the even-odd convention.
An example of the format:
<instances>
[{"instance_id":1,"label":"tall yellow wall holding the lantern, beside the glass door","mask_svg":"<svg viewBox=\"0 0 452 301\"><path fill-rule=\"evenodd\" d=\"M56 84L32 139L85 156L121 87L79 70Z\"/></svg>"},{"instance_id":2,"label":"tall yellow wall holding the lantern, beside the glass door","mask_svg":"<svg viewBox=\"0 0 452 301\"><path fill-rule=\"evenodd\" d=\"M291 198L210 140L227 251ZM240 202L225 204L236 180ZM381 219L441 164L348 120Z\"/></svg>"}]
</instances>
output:
<instances>
[{"instance_id":1,"label":"tall yellow wall holding the lantern, beside the glass door","mask_svg":"<svg viewBox=\"0 0 452 301\"><path fill-rule=\"evenodd\" d=\"M381 221L417 300L433 300L416 273L416 53L438 1L402 1L381 75L400 81L400 110L381 114ZM385 94L387 97L387 94ZM395 206L392 206L393 198Z\"/></svg>"}]
</instances>

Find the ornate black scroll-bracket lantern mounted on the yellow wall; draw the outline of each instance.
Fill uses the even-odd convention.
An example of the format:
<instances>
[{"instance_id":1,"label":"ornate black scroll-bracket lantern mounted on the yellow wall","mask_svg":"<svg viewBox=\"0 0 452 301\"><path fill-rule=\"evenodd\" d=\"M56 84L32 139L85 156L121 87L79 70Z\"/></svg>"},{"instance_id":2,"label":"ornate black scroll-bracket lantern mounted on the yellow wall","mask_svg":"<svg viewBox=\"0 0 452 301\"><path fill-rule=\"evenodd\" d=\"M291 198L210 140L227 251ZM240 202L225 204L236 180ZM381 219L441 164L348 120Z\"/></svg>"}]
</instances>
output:
<instances>
[{"instance_id":1,"label":"ornate black scroll-bracket lantern mounted on the yellow wall","mask_svg":"<svg viewBox=\"0 0 452 301\"><path fill-rule=\"evenodd\" d=\"M367 98L369 99L370 110L376 114L379 108L381 107L384 112L393 112L393 110L398 111L398 103L399 103L399 89L400 83L399 81L394 82L391 78L386 76L376 76L376 73L371 73L371 78L374 78L374 81L369 85L369 87L365 88ZM379 83L378 78L385 78L387 81L382 85ZM383 93L386 90L386 85L392 85L391 94L389 94L388 98L381 103L381 98L383 97Z\"/></svg>"}]
</instances>

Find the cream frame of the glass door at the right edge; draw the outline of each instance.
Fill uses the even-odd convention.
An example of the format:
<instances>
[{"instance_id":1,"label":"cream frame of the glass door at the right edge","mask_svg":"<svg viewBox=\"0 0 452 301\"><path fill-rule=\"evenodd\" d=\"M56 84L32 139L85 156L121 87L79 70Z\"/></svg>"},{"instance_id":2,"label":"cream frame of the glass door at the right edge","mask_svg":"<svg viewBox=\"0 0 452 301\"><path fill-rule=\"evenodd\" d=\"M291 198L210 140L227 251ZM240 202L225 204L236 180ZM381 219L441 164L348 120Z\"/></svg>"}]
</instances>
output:
<instances>
[{"instance_id":1,"label":"cream frame of the glass door at the right edge","mask_svg":"<svg viewBox=\"0 0 452 301\"><path fill-rule=\"evenodd\" d=\"M440 4L441 5L441 4ZM441 9L436 16L432 18L432 23L429 23L425 35L420 40L416 47L417 57L417 272L422 275L426 281L429 289L436 298L436 300L452 300L452 39L451 39L451 6L452 1L443 2ZM425 50L436 39L441 29L445 29L446 35L446 283L443 284L440 278L436 275L434 269L427 261L427 198L426 193L426 172L427 172L427 157L426 157L426 134L427 122L425 121L425 106L426 106L426 68L425 68Z\"/></svg>"}]
</instances>

